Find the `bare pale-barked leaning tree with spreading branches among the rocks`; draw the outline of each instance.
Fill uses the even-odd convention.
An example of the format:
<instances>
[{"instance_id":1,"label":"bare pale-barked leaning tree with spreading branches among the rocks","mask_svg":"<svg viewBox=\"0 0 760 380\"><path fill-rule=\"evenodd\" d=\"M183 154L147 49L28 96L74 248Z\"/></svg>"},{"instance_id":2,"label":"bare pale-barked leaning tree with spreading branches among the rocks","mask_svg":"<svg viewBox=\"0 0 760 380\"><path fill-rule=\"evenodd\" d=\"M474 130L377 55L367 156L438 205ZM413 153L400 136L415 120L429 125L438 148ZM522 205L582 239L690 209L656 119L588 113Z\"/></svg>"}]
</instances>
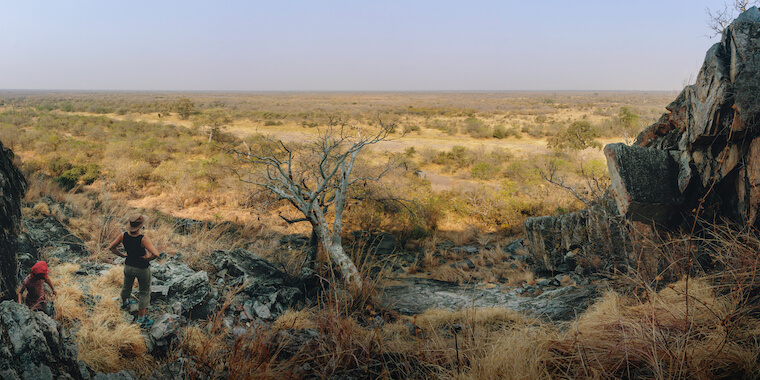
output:
<instances>
[{"instance_id":1,"label":"bare pale-barked leaning tree with spreading branches among the rocks","mask_svg":"<svg viewBox=\"0 0 760 380\"><path fill-rule=\"evenodd\" d=\"M362 280L341 242L343 212L353 184L378 181L390 170L389 163L377 175L352 178L362 149L385 140L394 128L394 124L382 121L369 130L331 120L314 141L302 146L264 138L253 148L244 143L245 149L233 150L241 162L261 168L258 173L247 171L241 180L264 187L298 209L303 218L286 221L311 223L312 242L319 241L330 260L340 268L344 280L357 287L362 286ZM330 212L332 223L328 220ZM315 253L307 255L309 267Z\"/></svg>"}]
</instances>

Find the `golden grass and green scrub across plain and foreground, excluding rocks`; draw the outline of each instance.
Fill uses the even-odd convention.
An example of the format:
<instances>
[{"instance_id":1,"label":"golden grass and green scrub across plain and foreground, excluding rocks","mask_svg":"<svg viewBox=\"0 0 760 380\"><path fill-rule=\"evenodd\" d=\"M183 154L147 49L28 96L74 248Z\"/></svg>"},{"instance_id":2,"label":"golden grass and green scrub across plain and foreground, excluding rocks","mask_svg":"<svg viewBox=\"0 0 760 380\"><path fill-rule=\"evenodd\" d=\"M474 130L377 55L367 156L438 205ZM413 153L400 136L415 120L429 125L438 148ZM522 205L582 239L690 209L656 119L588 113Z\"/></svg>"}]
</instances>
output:
<instances>
[{"instance_id":1,"label":"golden grass and green scrub across plain and foreground, excluding rocks","mask_svg":"<svg viewBox=\"0 0 760 380\"><path fill-rule=\"evenodd\" d=\"M243 142L299 141L336 115L357 125L382 119L397 126L387 145L356 164L366 170L394 157L383 181L362 184L349 197L344 234L365 279L360 293L328 281L317 305L242 336L229 335L218 318L185 329L177 352L203 368L232 368L233 378L297 377L305 365L322 378L354 370L372 378L757 376L760 240L728 227L709 227L699 239L636 235L636 252L646 259L636 270L610 274L612 290L563 325L500 309L406 318L374 302L384 281L409 275L481 285L535 281L526 267L504 267L501 247L520 237L525 218L583 206L547 183L542 171L552 170L581 193L593 191L583 187L584 177L594 173L604 181L606 173L596 146L632 139L672 98L0 93L0 141L15 151L29 179L25 215L53 213L85 242L90 260L112 259L105 248L126 210L136 208L151 216L154 243L170 259L208 269L214 249L245 247L295 275L303 258L277 245L283 234L306 234L308 227L288 224L284 219L297 219L297 210L239 181L240 162L229 150ZM51 202L72 212L48 208ZM179 235L174 217L214 226ZM372 268L380 259L366 255L356 231L394 234L401 249L418 252L416 262L378 274ZM490 269L452 270L449 263L463 257L430 256L443 241L492 246L479 258ZM709 265L699 247L714 252ZM58 286L57 318L77 326L82 360L96 370L130 368L142 375L162 363L146 354L139 331L121 320L112 302L121 285L118 268L87 283L71 279L75 264L53 268L54 280L66 284ZM94 306L86 305L83 287L100 296ZM377 316L382 324L372 322ZM284 352L282 331L301 327L319 330L320 338Z\"/></svg>"}]
</instances>

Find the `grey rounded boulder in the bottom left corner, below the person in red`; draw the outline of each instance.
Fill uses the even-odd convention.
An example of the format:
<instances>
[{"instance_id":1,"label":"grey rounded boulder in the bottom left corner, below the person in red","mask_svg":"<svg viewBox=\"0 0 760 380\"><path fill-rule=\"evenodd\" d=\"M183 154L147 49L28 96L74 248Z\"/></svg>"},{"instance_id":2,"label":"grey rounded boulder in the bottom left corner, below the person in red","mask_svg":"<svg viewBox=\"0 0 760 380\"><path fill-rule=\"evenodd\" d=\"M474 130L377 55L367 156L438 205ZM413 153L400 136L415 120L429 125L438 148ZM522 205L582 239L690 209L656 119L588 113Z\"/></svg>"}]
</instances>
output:
<instances>
[{"instance_id":1,"label":"grey rounded boulder in the bottom left corner, below the person in red","mask_svg":"<svg viewBox=\"0 0 760 380\"><path fill-rule=\"evenodd\" d=\"M45 313L25 305L0 303L0 378L83 379L85 366L77 361L77 347L64 338L60 325Z\"/></svg>"}]
</instances>

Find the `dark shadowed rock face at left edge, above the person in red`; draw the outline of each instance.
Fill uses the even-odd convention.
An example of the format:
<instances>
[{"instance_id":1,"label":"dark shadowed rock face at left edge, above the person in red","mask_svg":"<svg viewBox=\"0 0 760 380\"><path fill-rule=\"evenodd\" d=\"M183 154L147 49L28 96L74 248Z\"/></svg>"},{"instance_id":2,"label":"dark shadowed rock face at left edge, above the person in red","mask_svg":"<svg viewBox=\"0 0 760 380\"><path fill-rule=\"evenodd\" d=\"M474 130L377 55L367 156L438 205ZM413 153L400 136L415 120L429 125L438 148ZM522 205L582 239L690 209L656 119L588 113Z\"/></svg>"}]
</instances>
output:
<instances>
[{"instance_id":1,"label":"dark shadowed rock face at left edge, above the person in red","mask_svg":"<svg viewBox=\"0 0 760 380\"><path fill-rule=\"evenodd\" d=\"M13 299L18 284L17 235L26 180L0 142L0 299Z\"/></svg>"}]
</instances>

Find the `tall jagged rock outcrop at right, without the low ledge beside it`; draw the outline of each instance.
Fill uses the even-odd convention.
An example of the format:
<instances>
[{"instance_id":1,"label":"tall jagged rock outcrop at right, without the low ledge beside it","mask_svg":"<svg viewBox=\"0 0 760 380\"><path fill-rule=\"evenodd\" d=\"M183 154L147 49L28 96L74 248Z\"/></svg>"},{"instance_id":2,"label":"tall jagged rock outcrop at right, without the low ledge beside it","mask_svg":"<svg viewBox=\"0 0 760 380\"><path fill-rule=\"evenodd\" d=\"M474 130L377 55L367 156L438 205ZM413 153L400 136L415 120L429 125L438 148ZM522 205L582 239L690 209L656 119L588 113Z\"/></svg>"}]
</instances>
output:
<instances>
[{"instance_id":1,"label":"tall jagged rock outcrop at right, without the low ledge beside it","mask_svg":"<svg viewBox=\"0 0 760 380\"><path fill-rule=\"evenodd\" d=\"M742 13L634 146L605 148L621 214L645 222L727 217L757 225L760 206L760 11ZM676 220L678 221L678 220Z\"/></svg>"}]
</instances>

